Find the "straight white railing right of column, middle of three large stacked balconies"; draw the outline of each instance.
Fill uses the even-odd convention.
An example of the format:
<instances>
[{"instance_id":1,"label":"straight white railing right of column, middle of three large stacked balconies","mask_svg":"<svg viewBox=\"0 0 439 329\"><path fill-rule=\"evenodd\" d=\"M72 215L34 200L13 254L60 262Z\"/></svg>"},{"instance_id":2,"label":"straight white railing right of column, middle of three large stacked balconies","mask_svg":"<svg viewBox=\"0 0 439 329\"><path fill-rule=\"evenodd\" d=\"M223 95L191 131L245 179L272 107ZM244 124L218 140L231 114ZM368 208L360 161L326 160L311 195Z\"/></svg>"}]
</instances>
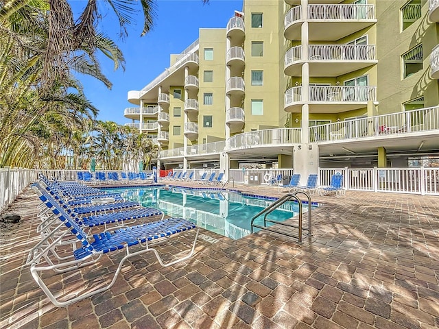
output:
<instances>
[{"instance_id":1,"label":"straight white railing right of column, middle of three large stacked balconies","mask_svg":"<svg viewBox=\"0 0 439 329\"><path fill-rule=\"evenodd\" d=\"M310 45L309 60L376 60L375 45Z\"/></svg>"}]
</instances>

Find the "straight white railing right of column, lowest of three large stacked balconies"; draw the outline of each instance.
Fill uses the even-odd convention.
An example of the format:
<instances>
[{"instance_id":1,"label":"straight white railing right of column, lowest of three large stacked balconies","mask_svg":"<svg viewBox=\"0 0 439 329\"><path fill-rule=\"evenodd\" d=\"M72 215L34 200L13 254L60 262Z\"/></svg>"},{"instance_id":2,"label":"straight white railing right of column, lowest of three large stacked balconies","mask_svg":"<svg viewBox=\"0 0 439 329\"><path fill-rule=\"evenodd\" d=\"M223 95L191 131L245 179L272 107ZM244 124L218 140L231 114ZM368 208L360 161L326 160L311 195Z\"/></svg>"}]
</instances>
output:
<instances>
[{"instance_id":1,"label":"straight white railing right of column, lowest of three large stacked balconies","mask_svg":"<svg viewBox=\"0 0 439 329\"><path fill-rule=\"evenodd\" d=\"M311 102L367 102L377 100L376 86L309 86Z\"/></svg>"}]
</instances>

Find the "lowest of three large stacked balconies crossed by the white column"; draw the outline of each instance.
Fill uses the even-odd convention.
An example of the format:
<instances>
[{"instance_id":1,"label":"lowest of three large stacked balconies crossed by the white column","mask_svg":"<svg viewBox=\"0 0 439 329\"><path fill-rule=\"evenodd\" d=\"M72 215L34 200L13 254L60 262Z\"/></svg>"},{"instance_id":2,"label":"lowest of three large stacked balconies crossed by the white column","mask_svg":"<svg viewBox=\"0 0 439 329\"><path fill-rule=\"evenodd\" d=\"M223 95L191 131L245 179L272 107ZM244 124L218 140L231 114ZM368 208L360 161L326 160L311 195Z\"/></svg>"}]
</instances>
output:
<instances>
[{"instance_id":1,"label":"lowest of three large stacked balconies crossed by the white column","mask_svg":"<svg viewBox=\"0 0 439 329\"><path fill-rule=\"evenodd\" d=\"M376 86L309 86L309 101L302 97L302 86L285 92L285 111L300 112L302 105L309 104L309 112L338 113L357 110L377 101Z\"/></svg>"}]
</instances>

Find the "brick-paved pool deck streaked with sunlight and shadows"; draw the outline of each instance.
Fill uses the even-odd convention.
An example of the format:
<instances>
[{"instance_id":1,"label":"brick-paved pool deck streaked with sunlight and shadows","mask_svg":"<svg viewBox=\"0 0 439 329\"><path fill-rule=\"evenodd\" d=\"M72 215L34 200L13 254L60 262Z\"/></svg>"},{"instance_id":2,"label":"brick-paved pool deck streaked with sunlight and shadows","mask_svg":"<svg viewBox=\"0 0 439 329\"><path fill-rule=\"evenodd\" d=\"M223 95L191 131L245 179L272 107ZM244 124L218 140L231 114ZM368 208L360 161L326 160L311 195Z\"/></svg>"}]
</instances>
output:
<instances>
[{"instance_id":1,"label":"brick-paved pool deck streaked with sunlight and shadows","mask_svg":"<svg viewBox=\"0 0 439 329\"><path fill-rule=\"evenodd\" d=\"M348 191L313 201L322 206L300 245L202 230L216 240L199 239L193 258L162 268L150 254L137 256L110 291L56 308L24 265L38 241L39 204L26 189L8 209L21 223L0 226L0 328L438 328L439 197Z\"/></svg>"}]
</instances>

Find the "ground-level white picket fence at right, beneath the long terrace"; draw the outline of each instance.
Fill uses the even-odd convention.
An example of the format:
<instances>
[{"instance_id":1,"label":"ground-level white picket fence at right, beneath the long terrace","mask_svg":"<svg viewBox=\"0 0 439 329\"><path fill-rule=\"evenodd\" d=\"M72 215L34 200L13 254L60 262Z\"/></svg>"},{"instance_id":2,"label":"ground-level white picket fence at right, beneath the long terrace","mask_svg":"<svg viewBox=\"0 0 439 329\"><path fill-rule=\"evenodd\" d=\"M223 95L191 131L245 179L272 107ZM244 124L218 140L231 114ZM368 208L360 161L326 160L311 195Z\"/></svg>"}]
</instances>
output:
<instances>
[{"instance_id":1,"label":"ground-level white picket fence at right, beneath the long terrace","mask_svg":"<svg viewBox=\"0 0 439 329\"><path fill-rule=\"evenodd\" d=\"M439 168L320 168L320 186L329 186L334 173L342 173L350 191L439 195Z\"/></svg>"}]
</instances>

